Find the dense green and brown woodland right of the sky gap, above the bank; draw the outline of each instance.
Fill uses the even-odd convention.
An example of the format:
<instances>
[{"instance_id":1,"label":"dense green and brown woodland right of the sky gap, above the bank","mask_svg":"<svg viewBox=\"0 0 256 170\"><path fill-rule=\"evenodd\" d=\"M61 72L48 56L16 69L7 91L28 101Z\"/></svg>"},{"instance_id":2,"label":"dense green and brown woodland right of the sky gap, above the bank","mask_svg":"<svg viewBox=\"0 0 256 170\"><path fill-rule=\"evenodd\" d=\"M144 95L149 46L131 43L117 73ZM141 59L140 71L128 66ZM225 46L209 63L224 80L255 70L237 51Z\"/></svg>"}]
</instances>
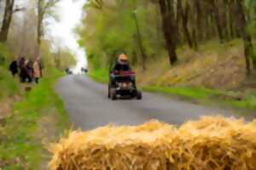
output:
<instances>
[{"instance_id":1,"label":"dense green and brown woodland right of the sky gap, above the bank","mask_svg":"<svg viewBox=\"0 0 256 170\"><path fill-rule=\"evenodd\" d=\"M108 68L119 53L150 69L150 59L175 66L177 50L241 40L246 74L256 68L255 0L90 0L77 31L92 68ZM214 50L214 49L212 49Z\"/></svg>"}]
</instances>

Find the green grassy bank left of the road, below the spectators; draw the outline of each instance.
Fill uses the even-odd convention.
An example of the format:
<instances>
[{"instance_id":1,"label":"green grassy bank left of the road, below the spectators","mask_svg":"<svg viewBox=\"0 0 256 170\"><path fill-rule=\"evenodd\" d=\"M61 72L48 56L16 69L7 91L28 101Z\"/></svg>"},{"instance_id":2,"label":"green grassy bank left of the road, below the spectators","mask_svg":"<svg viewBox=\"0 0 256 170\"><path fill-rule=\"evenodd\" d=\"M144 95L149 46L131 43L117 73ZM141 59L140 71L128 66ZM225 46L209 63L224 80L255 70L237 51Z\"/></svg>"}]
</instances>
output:
<instances>
[{"instance_id":1,"label":"green grassy bank left of the road, below the spectators","mask_svg":"<svg viewBox=\"0 0 256 170\"><path fill-rule=\"evenodd\" d=\"M67 114L61 99L55 94L54 83L61 77L55 69L49 69L45 78L24 99L15 104L14 113L3 127L0 143L0 160L19 159L20 163L5 167L13 169L40 169L46 159L39 122L44 116L53 116L57 125L56 134L67 127ZM26 165L26 166L25 166ZM25 167L24 167L25 166Z\"/></svg>"}]
</instances>

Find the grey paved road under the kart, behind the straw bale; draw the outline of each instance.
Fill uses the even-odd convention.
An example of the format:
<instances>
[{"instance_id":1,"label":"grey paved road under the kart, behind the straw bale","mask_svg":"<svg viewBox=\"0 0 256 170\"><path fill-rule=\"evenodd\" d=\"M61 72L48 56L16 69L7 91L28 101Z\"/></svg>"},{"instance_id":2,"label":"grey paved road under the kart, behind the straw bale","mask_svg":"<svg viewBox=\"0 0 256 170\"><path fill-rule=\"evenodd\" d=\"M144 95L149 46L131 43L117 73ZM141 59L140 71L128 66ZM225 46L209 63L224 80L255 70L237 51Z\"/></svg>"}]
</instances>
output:
<instances>
[{"instance_id":1,"label":"grey paved road under the kart, behind the straw bale","mask_svg":"<svg viewBox=\"0 0 256 170\"><path fill-rule=\"evenodd\" d=\"M143 100L111 101L107 87L84 76L61 78L56 91L64 99L70 122L84 130L104 126L137 125L151 119L180 124L204 115L232 116L231 111L220 111L189 102L171 99L160 94L143 94Z\"/></svg>"}]
</instances>

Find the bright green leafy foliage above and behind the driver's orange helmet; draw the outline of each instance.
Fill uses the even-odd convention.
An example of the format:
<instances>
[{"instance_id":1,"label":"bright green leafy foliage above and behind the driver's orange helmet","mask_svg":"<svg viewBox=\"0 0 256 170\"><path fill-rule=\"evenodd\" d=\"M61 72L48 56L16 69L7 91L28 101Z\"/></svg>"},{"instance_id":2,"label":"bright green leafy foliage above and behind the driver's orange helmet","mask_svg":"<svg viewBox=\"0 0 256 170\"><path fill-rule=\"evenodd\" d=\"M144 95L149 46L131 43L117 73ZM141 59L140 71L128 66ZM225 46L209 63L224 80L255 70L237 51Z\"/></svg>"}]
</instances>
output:
<instances>
[{"instance_id":1,"label":"bright green leafy foliage above and behind the driver's orange helmet","mask_svg":"<svg viewBox=\"0 0 256 170\"><path fill-rule=\"evenodd\" d=\"M92 8L90 2L85 8L87 14L83 21L84 26L78 29L79 44L86 49L90 66L108 69L123 52L128 54L132 64L141 62L135 13L145 51L148 55L155 56L163 42L163 38L157 33L157 26L148 26L148 23L157 20L155 8L146 8L148 3L136 4L135 1L115 1L113 4L111 7L110 4L105 4L105 8L99 10Z\"/></svg>"}]
</instances>

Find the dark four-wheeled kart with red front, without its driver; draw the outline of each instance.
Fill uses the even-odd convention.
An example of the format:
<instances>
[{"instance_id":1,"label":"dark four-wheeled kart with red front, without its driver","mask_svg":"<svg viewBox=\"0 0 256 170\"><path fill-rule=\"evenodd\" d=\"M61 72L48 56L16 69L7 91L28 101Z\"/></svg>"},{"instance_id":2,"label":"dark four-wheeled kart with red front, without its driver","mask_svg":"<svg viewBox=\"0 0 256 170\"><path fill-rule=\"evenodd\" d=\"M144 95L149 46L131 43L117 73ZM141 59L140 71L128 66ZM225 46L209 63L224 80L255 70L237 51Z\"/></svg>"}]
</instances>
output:
<instances>
[{"instance_id":1,"label":"dark four-wheeled kart with red front, without its driver","mask_svg":"<svg viewBox=\"0 0 256 170\"><path fill-rule=\"evenodd\" d=\"M143 99L142 92L137 90L136 74L133 71L113 71L110 73L108 84L108 99L130 97L130 99Z\"/></svg>"}]
</instances>

